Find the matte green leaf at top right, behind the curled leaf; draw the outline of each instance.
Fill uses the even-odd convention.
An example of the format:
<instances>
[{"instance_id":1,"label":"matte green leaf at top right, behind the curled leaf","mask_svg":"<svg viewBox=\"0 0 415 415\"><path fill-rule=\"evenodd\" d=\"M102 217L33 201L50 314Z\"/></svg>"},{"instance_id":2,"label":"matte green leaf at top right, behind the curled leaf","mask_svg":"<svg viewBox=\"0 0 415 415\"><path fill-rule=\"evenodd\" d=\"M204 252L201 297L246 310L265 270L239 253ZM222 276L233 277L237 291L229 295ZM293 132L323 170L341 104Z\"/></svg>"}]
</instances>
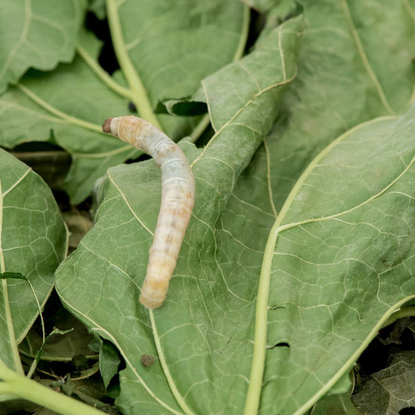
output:
<instances>
[{"instance_id":1,"label":"matte green leaf at top right, behind the curled leaf","mask_svg":"<svg viewBox=\"0 0 415 415\"><path fill-rule=\"evenodd\" d=\"M277 211L329 142L360 122L390 115L387 108L405 112L415 96L415 12L408 1L399 7L387 0L302 3L298 76L266 140Z\"/></svg>"}]
</instances>

